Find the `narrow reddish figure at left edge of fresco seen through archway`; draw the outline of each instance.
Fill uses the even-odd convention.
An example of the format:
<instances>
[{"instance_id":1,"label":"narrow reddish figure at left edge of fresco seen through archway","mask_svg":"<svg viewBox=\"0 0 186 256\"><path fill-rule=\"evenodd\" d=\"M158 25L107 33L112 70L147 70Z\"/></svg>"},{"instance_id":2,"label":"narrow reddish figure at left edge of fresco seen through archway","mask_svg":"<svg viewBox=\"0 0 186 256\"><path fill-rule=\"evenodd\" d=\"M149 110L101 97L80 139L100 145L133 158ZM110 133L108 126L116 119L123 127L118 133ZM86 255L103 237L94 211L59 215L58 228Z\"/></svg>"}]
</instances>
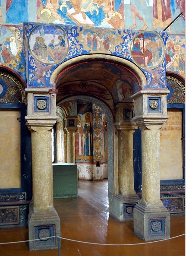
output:
<instances>
[{"instance_id":1,"label":"narrow reddish figure at left edge of fresco seen through archway","mask_svg":"<svg viewBox=\"0 0 186 256\"><path fill-rule=\"evenodd\" d=\"M75 132L75 152L76 155L83 155L83 126L79 114L77 114L77 128Z\"/></svg>"}]
</instances>

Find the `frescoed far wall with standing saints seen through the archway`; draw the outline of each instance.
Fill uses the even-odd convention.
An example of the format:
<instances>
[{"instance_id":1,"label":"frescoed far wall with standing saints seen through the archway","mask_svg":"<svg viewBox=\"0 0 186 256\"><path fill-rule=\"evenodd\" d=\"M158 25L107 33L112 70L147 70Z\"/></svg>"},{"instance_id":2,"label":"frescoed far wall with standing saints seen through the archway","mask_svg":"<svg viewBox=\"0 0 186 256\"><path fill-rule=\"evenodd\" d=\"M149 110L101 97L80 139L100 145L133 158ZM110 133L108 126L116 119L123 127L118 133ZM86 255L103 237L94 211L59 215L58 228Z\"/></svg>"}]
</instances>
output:
<instances>
[{"instance_id":1,"label":"frescoed far wall with standing saints seen through the archway","mask_svg":"<svg viewBox=\"0 0 186 256\"><path fill-rule=\"evenodd\" d=\"M97 104L77 100L75 132L78 178L107 178L107 117Z\"/></svg>"}]
</instances>

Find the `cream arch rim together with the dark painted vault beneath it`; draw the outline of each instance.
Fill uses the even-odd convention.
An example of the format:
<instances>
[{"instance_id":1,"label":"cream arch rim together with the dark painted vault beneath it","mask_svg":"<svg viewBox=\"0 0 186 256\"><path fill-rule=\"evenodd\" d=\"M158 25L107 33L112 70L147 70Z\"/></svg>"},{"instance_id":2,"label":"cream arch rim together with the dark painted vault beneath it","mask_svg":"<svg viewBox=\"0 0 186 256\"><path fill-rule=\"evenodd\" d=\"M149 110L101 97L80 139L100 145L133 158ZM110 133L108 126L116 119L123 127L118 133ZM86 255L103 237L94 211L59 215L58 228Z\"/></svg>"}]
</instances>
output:
<instances>
[{"instance_id":1,"label":"cream arch rim together with the dark painted vault beneath it","mask_svg":"<svg viewBox=\"0 0 186 256\"><path fill-rule=\"evenodd\" d=\"M101 98L111 108L120 101L120 83L132 93L146 84L142 70L129 60L107 54L78 56L59 65L50 78L59 91L57 101L68 95L92 95Z\"/></svg>"}]
</instances>

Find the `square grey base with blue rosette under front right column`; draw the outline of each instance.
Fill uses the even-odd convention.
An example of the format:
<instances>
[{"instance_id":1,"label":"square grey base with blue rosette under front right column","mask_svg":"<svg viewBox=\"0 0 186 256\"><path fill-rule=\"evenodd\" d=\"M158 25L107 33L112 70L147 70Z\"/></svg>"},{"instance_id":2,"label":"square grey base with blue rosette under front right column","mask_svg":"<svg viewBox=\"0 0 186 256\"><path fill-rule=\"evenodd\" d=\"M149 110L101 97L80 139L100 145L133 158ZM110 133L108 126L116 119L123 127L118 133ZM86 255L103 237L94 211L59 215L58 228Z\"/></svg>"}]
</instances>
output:
<instances>
[{"instance_id":1,"label":"square grey base with blue rosette under front right column","mask_svg":"<svg viewBox=\"0 0 186 256\"><path fill-rule=\"evenodd\" d=\"M139 202L134 208L134 234L142 240L170 238L170 213L164 205L145 206Z\"/></svg>"}]
</instances>

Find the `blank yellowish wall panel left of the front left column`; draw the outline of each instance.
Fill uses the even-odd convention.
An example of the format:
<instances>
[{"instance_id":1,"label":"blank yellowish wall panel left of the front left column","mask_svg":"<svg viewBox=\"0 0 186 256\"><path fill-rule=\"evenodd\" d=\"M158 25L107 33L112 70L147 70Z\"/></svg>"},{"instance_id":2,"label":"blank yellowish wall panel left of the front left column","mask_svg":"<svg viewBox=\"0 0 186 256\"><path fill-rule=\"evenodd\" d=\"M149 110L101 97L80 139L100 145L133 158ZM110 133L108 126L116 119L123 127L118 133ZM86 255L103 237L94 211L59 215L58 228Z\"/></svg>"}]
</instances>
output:
<instances>
[{"instance_id":1,"label":"blank yellowish wall panel left of the front left column","mask_svg":"<svg viewBox=\"0 0 186 256\"><path fill-rule=\"evenodd\" d=\"M20 111L0 110L0 189L19 188Z\"/></svg>"}]
</instances>

